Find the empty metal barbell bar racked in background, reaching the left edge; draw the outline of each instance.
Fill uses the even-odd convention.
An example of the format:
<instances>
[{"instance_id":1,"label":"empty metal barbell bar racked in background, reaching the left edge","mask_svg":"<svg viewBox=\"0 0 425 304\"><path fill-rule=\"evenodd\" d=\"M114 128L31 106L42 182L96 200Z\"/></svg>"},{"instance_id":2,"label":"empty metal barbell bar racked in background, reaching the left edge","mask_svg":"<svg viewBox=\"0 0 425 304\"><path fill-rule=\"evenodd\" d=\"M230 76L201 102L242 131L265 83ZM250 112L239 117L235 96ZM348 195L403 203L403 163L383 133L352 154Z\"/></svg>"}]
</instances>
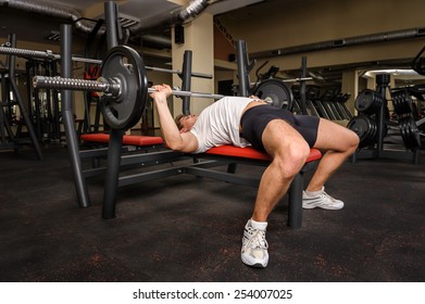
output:
<instances>
[{"instance_id":1,"label":"empty metal barbell bar racked in background, reaching the left edge","mask_svg":"<svg viewBox=\"0 0 425 304\"><path fill-rule=\"evenodd\" d=\"M18 48L3 47L3 46L0 46L0 54L16 55L20 58L28 58L28 59L43 59L43 60L61 59L60 54L55 54L51 50L35 51L29 49L18 49ZM75 62L84 62L84 63L98 64L98 65L101 65L103 62L99 59L88 59L88 58L80 58L80 56L72 56L71 60ZM170 68L162 68L162 67L148 66L148 65L146 65L145 68L153 72L182 74L180 69L170 69ZM198 72L191 72L191 76L198 78L207 78L207 79L213 78L211 74L198 73Z\"/></svg>"}]
</instances>

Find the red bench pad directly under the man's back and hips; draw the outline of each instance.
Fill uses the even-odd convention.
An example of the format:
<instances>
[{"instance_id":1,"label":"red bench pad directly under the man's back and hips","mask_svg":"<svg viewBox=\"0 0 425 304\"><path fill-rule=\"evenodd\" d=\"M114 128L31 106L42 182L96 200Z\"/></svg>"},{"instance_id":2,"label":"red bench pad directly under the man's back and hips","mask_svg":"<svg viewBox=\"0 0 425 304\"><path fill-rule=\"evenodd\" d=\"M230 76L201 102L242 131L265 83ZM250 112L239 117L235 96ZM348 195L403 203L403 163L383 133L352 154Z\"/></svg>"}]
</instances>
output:
<instances>
[{"instance_id":1,"label":"red bench pad directly under the man's back and hips","mask_svg":"<svg viewBox=\"0 0 425 304\"><path fill-rule=\"evenodd\" d=\"M239 148L235 145L220 145L220 147L211 148L205 152L205 154L243 157L243 159L260 160L260 161L272 161L272 157L267 153L260 152L250 147ZM317 149L311 149L310 156L305 163L317 161L321 157L322 157L321 151L318 151Z\"/></svg>"}]
</instances>

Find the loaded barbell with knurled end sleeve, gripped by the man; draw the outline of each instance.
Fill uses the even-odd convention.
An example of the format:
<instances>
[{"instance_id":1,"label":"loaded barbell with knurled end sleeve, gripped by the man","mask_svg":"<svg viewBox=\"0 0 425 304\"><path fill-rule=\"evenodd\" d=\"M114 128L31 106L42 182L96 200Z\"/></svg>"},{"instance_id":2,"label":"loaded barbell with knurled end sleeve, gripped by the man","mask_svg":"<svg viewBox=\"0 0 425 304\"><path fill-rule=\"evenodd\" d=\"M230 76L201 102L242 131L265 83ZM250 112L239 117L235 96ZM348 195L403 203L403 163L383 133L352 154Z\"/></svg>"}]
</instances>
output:
<instances>
[{"instance_id":1,"label":"loaded barbell with knurled end sleeve, gripped by the man","mask_svg":"<svg viewBox=\"0 0 425 304\"><path fill-rule=\"evenodd\" d=\"M141 55L133 48L112 48L101 64L101 77L97 80L35 76L33 87L38 89L79 90L100 92L103 119L113 129L129 129L135 126L146 109L149 93L146 66ZM174 96L221 99L222 94L172 90ZM279 94L263 94L261 98L280 106L275 99Z\"/></svg>"}]
</instances>

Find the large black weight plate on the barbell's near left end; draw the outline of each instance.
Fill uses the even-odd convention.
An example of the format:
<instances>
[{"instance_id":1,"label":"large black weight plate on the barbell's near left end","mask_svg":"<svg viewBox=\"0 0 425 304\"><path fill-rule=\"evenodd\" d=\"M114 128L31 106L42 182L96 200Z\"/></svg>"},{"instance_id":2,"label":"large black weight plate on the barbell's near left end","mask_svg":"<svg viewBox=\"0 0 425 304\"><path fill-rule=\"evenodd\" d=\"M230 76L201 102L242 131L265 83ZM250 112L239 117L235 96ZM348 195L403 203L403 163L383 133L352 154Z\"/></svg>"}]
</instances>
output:
<instances>
[{"instance_id":1,"label":"large black weight plate on the barbell's near left end","mask_svg":"<svg viewBox=\"0 0 425 304\"><path fill-rule=\"evenodd\" d=\"M143 60L138 52L126 46L112 48L102 62L104 79L117 81L118 97L102 96L103 119L113 129L129 129L135 126L148 100L148 80Z\"/></svg>"}]
</instances>

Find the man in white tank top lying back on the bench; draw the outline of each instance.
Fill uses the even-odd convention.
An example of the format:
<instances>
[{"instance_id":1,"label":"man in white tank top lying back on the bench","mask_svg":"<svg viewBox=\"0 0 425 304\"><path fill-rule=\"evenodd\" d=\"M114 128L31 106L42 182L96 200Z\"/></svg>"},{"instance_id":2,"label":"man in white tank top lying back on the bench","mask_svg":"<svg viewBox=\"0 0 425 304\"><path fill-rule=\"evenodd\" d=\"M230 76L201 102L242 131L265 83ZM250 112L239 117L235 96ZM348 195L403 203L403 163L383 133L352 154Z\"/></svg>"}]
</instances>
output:
<instances>
[{"instance_id":1,"label":"man in white tank top lying back on the bench","mask_svg":"<svg viewBox=\"0 0 425 304\"><path fill-rule=\"evenodd\" d=\"M241 259L253 267L268 263L267 217L304 165L310 149L326 151L307 190L304 208L340 210L343 202L324 191L330 175L352 154L359 137L348 128L315 116L293 115L258 98L225 97L198 115L173 118L166 102L170 86L153 86L161 130L170 149L202 153L223 145L252 145L272 157L261 177L252 217L245 226ZM176 125L177 124L177 125Z\"/></svg>"}]
</instances>

